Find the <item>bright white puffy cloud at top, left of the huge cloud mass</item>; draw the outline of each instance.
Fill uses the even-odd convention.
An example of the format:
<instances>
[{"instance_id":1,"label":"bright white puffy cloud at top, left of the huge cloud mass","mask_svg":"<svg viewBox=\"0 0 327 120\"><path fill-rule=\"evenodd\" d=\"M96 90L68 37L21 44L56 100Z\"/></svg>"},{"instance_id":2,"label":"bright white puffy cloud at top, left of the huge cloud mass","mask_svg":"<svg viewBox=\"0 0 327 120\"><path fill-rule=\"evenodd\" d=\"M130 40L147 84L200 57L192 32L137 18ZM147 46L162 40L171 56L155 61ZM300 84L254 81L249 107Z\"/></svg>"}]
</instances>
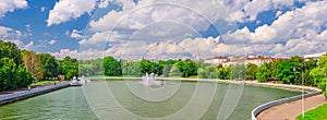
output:
<instances>
[{"instance_id":1,"label":"bright white puffy cloud at top, left of the huge cloud mass","mask_svg":"<svg viewBox=\"0 0 327 120\"><path fill-rule=\"evenodd\" d=\"M51 26L70 20L76 20L84 13L90 14L95 5L96 0L60 0L50 10L47 25Z\"/></svg>"}]
</instances>

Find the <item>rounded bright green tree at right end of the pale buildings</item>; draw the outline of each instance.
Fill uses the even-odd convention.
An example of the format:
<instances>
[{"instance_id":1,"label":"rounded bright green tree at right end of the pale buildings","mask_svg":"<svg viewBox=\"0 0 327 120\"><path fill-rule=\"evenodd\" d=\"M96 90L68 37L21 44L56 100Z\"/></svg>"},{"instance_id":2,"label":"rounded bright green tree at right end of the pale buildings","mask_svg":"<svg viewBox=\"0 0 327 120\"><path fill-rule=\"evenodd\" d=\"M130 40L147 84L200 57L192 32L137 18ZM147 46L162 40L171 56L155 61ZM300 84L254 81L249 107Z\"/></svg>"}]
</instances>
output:
<instances>
[{"instance_id":1,"label":"rounded bright green tree at right end of the pale buildings","mask_svg":"<svg viewBox=\"0 0 327 120\"><path fill-rule=\"evenodd\" d=\"M264 63L257 68L256 79L259 82L266 82L271 76L271 71L268 69L268 63Z\"/></svg>"}]
</instances>

